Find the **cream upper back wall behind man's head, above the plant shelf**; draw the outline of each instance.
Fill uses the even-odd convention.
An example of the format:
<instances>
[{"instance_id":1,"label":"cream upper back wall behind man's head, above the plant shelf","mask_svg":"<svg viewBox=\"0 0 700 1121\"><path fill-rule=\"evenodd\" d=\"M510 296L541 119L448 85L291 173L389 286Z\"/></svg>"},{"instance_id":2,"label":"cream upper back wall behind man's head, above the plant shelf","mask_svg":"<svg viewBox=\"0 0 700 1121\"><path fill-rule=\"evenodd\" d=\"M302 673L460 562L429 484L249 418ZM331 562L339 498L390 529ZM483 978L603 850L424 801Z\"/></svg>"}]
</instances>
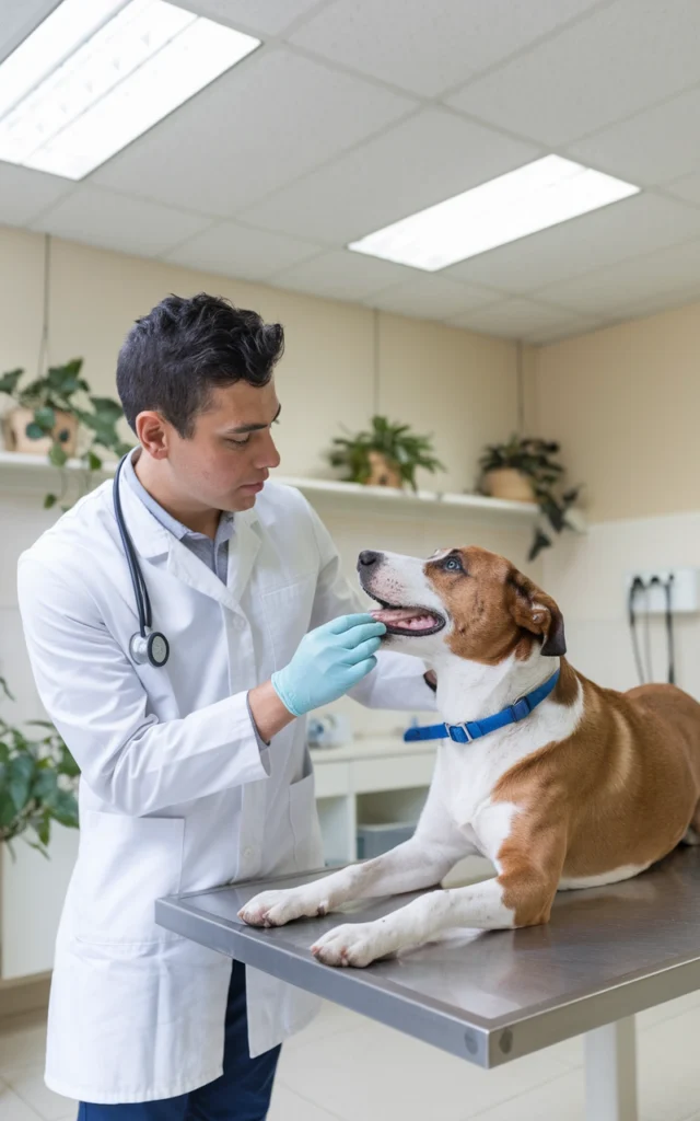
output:
<instances>
[{"instance_id":1,"label":"cream upper back wall behind man's head, above the plant shelf","mask_svg":"<svg viewBox=\"0 0 700 1121\"><path fill-rule=\"evenodd\" d=\"M0 228L0 369L37 362L44 240ZM419 432L435 433L447 465L421 484L472 487L484 443L516 419L515 348L428 321L379 314L360 305L230 280L52 239L50 351L59 362L81 354L94 389L114 392L116 352L133 319L167 293L206 290L283 323L287 352L278 373L283 424L276 430L287 474L318 474L339 421L366 424L376 404ZM375 334L376 331L376 334Z\"/></svg>"}]
</instances>

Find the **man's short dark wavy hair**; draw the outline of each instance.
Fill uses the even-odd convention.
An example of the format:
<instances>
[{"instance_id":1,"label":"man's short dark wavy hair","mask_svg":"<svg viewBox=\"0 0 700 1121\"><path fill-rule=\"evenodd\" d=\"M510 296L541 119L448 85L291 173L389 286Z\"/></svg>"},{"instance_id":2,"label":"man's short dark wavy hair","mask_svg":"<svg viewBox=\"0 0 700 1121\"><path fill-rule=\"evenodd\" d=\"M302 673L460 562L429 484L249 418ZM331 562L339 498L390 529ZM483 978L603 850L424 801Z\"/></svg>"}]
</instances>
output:
<instances>
[{"instance_id":1,"label":"man's short dark wavy hair","mask_svg":"<svg viewBox=\"0 0 700 1121\"><path fill-rule=\"evenodd\" d=\"M127 420L161 413L184 438L216 386L267 386L284 351L279 323L263 323L221 296L166 296L137 319L116 360L116 389Z\"/></svg>"}]
</instances>

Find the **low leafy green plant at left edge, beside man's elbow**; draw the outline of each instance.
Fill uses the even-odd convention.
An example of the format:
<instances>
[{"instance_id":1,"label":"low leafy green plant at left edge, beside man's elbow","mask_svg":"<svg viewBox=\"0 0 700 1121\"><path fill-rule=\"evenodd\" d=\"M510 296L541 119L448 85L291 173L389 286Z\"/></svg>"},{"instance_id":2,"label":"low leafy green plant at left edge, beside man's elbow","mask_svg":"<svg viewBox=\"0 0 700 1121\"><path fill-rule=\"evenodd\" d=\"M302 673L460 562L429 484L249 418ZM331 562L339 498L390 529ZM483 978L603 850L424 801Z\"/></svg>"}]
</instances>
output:
<instances>
[{"instance_id":1,"label":"low leafy green plant at left edge, beside man's elbow","mask_svg":"<svg viewBox=\"0 0 700 1121\"><path fill-rule=\"evenodd\" d=\"M4 678L0 695L13 700ZM0 717L0 841L12 858L12 841L21 836L48 858L53 822L77 828L75 788L80 769L53 724L27 721L45 730L30 739Z\"/></svg>"}]
</instances>

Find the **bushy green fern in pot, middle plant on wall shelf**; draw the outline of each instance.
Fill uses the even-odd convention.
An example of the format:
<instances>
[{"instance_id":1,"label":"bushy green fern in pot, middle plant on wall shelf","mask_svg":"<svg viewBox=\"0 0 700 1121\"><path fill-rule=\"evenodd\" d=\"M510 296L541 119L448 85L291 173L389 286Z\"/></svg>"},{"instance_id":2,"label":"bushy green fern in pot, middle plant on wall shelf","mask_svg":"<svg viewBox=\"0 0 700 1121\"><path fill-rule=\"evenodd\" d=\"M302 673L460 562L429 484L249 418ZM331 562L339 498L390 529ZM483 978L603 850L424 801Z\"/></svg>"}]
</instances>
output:
<instances>
[{"instance_id":1,"label":"bushy green fern in pot, middle plant on wall shelf","mask_svg":"<svg viewBox=\"0 0 700 1121\"><path fill-rule=\"evenodd\" d=\"M327 453L334 467L345 471L344 482L366 487L394 487L407 483L417 490L416 470L444 471L432 453L432 438L418 436L408 424L392 424L386 417L373 416L368 432L355 436L336 436Z\"/></svg>"}]
</instances>

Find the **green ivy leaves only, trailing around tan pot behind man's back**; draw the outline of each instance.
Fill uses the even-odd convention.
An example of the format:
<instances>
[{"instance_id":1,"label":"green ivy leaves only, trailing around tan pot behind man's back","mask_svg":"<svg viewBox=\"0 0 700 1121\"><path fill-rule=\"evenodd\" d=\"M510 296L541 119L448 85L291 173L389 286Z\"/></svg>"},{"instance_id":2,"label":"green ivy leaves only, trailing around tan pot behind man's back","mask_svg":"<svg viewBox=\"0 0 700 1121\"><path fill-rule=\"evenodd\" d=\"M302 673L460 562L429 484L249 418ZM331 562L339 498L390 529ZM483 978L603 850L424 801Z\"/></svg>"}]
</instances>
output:
<instances>
[{"instance_id":1,"label":"green ivy leaves only, trailing around tan pot behind man's back","mask_svg":"<svg viewBox=\"0 0 700 1121\"><path fill-rule=\"evenodd\" d=\"M10 370L0 376L0 393L7 393L20 408L32 411L27 425L30 439L49 436L52 446L48 458L55 467L63 467L68 458L64 445L69 439L67 429L56 429L56 414L68 413L90 434L90 442L81 454L90 476L102 467L102 452L113 452L120 458L129 451L116 425L123 416L121 405L111 397L93 397L87 381L81 377L83 359L74 358L64 365L50 367L43 377L35 378L20 388L25 370ZM65 479L62 480L60 495L49 493L44 499L46 509L60 501L65 494ZM65 509L65 507L64 507Z\"/></svg>"}]
</instances>

